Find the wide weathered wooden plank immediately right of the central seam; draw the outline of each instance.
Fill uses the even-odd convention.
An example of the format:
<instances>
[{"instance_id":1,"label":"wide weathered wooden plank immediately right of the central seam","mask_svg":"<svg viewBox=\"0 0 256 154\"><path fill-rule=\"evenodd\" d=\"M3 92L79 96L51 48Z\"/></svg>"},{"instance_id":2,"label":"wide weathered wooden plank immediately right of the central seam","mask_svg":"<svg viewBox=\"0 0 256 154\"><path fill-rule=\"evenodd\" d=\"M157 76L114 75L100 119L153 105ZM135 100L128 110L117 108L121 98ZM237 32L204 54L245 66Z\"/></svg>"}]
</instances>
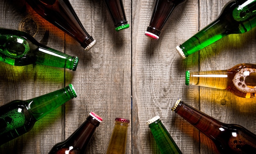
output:
<instances>
[{"instance_id":1,"label":"wide weathered wooden plank immediately right of the central seam","mask_svg":"<svg viewBox=\"0 0 256 154\"><path fill-rule=\"evenodd\" d=\"M171 107L182 98L193 106L198 99L189 96L197 90L185 88L184 72L198 68L198 55L185 61L175 47L198 31L198 1L188 0L178 7L161 31L159 40L144 35L154 1L132 3L132 153L160 153L146 121L159 115L166 129L184 153L199 153L198 130L193 129ZM188 93L189 91L189 93ZM187 95L188 94L188 95Z\"/></svg>"}]
</instances>

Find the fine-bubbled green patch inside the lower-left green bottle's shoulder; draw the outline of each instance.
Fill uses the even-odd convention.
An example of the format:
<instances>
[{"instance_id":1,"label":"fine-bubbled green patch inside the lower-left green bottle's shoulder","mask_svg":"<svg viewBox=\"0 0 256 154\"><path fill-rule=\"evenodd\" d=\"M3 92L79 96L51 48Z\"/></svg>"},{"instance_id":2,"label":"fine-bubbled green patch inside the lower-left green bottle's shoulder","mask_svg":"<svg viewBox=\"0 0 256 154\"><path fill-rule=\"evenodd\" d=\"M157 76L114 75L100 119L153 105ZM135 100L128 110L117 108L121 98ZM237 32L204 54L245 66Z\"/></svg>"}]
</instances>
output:
<instances>
[{"instance_id":1,"label":"fine-bubbled green patch inside the lower-left green bottle's shoulder","mask_svg":"<svg viewBox=\"0 0 256 154\"><path fill-rule=\"evenodd\" d=\"M24 125L25 114L22 110L22 108L15 108L0 116L0 134L15 130Z\"/></svg>"}]
</instances>

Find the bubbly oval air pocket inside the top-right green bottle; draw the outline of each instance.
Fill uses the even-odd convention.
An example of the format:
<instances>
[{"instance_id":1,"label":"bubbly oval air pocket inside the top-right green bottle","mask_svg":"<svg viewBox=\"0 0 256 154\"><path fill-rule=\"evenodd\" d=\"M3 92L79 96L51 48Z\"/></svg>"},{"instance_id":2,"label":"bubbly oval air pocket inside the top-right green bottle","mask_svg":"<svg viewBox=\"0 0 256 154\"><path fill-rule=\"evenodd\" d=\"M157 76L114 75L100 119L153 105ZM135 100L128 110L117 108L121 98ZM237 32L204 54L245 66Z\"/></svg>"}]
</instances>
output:
<instances>
[{"instance_id":1,"label":"bubbly oval air pocket inside the top-right green bottle","mask_svg":"<svg viewBox=\"0 0 256 154\"><path fill-rule=\"evenodd\" d=\"M256 15L255 0L247 0L233 10L233 17L238 22L243 22L254 15Z\"/></svg>"}]
</instances>

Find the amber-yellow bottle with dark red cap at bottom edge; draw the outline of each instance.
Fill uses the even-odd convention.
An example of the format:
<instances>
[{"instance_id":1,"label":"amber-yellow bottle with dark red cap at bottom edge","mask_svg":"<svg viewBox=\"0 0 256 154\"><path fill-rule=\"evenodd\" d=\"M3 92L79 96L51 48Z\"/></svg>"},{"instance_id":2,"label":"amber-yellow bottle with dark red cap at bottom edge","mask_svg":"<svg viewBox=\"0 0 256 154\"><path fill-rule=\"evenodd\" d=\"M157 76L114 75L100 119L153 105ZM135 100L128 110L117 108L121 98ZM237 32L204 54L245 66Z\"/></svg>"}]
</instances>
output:
<instances>
[{"instance_id":1,"label":"amber-yellow bottle with dark red cap at bottom edge","mask_svg":"<svg viewBox=\"0 0 256 154\"><path fill-rule=\"evenodd\" d=\"M115 127L108 145L107 154L125 154L127 130L130 120L123 118L115 119Z\"/></svg>"}]
</instances>

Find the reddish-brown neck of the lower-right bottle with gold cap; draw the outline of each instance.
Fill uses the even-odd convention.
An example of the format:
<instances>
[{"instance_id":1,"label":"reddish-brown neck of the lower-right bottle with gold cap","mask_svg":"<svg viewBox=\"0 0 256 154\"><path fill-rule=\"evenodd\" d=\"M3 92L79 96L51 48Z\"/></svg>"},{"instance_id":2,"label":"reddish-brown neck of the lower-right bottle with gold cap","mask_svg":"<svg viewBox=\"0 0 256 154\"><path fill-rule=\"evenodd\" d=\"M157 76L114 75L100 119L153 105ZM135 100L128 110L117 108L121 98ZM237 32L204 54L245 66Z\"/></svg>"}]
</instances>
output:
<instances>
[{"instance_id":1,"label":"reddish-brown neck of the lower-right bottle with gold cap","mask_svg":"<svg viewBox=\"0 0 256 154\"><path fill-rule=\"evenodd\" d=\"M207 114L187 105L183 101L180 101L180 99L175 103L172 110L213 141L222 133L222 130L225 130L224 128L226 128L224 123L221 123Z\"/></svg>"}]
</instances>

